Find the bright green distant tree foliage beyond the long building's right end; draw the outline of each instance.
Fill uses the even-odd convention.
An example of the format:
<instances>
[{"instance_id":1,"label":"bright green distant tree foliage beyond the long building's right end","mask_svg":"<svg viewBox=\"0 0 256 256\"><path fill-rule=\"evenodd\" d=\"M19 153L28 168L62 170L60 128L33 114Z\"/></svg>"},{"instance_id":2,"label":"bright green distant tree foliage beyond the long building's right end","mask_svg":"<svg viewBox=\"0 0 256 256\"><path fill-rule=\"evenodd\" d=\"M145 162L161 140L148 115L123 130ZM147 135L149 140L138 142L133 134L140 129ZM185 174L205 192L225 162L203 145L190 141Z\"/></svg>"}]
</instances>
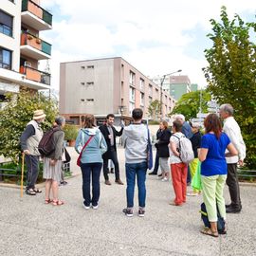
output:
<instances>
[{"instance_id":1,"label":"bright green distant tree foliage beyond the long building's right end","mask_svg":"<svg viewBox=\"0 0 256 256\"><path fill-rule=\"evenodd\" d=\"M194 91L183 94L179 101L176 102L173 111L169 114L182 114L186 119L196 118L196 114L200 110L200 94L201 91ZM202 113L207 113L207 101L210 101L210 93L202 90L201 110Z\"/></svg>"}]
</instances>

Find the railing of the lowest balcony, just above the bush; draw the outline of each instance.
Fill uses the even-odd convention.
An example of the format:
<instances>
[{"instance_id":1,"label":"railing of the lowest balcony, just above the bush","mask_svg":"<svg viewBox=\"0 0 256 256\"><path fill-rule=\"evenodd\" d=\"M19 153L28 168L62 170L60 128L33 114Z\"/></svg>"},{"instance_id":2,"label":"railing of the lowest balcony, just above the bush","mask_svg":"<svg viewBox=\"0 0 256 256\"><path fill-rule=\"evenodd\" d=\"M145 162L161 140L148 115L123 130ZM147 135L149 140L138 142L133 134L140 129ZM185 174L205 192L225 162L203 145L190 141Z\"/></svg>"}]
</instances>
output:
<instances>
[{"instance_id":1,"label":"railing of the lowest balcony, just above the bush","mask_svg":"<svg viewBox=\"0 0 256 256\"><path fill-rule=\"evenodd\" d=\"M46 85L50 85L50 74L46 72L22 65L20 67L20 73L26 75L26 78L28 80L31 80L34 82L42 82Z\"/></svg>"}]
</instances>

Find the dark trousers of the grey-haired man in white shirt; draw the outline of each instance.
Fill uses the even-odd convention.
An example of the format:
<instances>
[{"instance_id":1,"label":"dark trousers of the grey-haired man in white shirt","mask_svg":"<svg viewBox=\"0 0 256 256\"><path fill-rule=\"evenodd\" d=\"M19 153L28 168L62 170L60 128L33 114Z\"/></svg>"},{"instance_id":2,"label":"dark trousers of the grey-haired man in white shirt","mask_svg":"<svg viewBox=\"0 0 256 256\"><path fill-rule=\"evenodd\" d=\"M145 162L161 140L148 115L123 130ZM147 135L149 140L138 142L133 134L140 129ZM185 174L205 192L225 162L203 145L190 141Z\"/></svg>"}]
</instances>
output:
<instances>
[{"instance_id":1,"label":"dark trousers of the grey-haired man in white shirt","mask_svg":"<svg viewBox=\"0 0 256 256\"><path fill-rule=\"evenodd\" d=\"M234 209L241 209L241 199L240 199L240 189L237 178L237 164L232 163L228 164L228 177L227 177L227 185L229 186L229 194L231 199L231 206Z\"/></svg>"}]
</instances>

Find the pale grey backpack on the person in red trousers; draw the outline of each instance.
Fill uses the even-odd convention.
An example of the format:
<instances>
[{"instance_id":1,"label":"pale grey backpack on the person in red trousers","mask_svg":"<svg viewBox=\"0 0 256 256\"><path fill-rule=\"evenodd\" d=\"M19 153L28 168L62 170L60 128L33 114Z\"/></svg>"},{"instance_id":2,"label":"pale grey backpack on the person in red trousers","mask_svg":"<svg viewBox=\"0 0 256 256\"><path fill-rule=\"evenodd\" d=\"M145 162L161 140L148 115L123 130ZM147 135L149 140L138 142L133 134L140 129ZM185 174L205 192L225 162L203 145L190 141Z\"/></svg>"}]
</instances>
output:
<instances>
[{"instance_id":1,"label":"pale grey backpack on the person in red trousers","mask_svg":"<svg viewBox=\"0 0 256 256\"><path fill-rule=\"evenodd\" d=\"M177 137L174 135L174 137ZM179 140L179 158L183 163L190 163L193 158L192 141L188 137L177 137Z\"/></svg>"}]
</instances>

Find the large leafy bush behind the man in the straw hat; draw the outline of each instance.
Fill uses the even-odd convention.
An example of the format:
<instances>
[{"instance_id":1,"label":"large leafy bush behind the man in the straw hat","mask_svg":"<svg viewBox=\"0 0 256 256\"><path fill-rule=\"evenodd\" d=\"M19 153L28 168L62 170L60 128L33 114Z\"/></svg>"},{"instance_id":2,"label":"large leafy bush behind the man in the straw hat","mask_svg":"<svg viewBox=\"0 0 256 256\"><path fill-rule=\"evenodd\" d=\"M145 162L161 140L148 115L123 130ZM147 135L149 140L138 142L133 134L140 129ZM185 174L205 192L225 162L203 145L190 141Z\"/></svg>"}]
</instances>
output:
<instances>
[{"instance_id":1,"label":"large leafy bush behind the man in the straw hat","mask_svg":"<svg viewBox=\"0 0 256 256\"><path fill-rule=\"evenodd\" d=\"M27 122L32 119L33 111L43 109L46 120L43 129L51 127L58 112L57 101L42 93L22 90L19 94L6 95L7 106L0 111L0 155L18 162L21 154L20 137Z\"/></svg>"}]
</instances>

